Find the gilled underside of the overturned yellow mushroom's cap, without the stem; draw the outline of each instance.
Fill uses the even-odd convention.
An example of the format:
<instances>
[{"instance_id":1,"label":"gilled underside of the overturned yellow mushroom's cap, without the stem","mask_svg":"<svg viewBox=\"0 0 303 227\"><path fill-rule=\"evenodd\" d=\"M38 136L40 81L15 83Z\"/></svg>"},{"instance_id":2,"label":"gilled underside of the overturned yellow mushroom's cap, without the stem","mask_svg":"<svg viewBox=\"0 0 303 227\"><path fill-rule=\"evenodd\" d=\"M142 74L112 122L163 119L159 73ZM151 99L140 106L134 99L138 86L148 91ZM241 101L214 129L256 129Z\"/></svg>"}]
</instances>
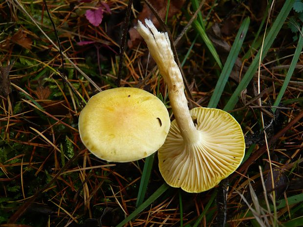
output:
<instances>
[{"instance_id":1,"label":"gilled underside of the overturned yellow mushroom's cap, without the stem","mask_svg":"<svg viewBox=\"0 0 303 227\"><path fill-rule=\"evenodd\" d=\"M245 141L238 122L227 112L194 108L192 119L200 135L195 144L184 142L175 120L158 150L164 180L187 192L202 192L233 173L244 157Z\"/></svg>"}]
</instances>

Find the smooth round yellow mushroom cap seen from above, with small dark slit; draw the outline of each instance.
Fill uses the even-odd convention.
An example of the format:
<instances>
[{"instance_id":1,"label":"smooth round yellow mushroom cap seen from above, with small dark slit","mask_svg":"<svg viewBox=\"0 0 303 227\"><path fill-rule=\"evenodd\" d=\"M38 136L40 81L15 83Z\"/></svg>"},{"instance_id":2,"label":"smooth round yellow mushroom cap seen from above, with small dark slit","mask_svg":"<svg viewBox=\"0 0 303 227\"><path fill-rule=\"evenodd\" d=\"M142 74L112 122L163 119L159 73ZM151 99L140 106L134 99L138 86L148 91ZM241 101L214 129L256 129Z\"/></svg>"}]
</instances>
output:
<instances>
[{"instance_id":1,"label":"smooth round yellow mushroom cap seen from above, with small dark slit","mask_svg":"<svg viewBox=\"0 0 303 227\"><path fill-rule=\"evenodd\" d=\"M120 87L94 95L79 117L87 149L109 162L130 162L155 152L170 128L165 105L151 93Z\"/></svg>"}]
</instances>

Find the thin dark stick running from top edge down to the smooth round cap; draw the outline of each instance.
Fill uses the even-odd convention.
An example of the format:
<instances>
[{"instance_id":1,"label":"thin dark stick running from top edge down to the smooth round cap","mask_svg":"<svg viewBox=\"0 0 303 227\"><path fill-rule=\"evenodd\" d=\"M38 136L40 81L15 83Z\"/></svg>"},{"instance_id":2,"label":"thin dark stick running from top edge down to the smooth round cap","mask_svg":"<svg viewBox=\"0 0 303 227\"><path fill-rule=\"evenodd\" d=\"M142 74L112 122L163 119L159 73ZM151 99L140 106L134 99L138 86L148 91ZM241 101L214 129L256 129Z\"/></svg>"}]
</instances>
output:
<instances>
[{"instance_id":1,"label":"thin dark stick running from top edge down to the smooth round cap","mask_svg":"<svg viewBox=\"0 0 303 227\"><path fill-rule=\"evenodd\" d=\"M129 4L126 9L126 16L125 16L125 21L124 21L124 27L123 27L123 35L122 35L122 41L120 45L120 61L119 61L119 68L118 68L118 76L117 76L117 86L120 87L121 83L121 70L122 70L122 65L123 65L123 60L124 60L124 49L126 45L126 34L128 31L129 27L129 22L130 22L130 10L131 10L131 5L132 5L132 0L129 0Z\"/></svg>"}]
</instances>

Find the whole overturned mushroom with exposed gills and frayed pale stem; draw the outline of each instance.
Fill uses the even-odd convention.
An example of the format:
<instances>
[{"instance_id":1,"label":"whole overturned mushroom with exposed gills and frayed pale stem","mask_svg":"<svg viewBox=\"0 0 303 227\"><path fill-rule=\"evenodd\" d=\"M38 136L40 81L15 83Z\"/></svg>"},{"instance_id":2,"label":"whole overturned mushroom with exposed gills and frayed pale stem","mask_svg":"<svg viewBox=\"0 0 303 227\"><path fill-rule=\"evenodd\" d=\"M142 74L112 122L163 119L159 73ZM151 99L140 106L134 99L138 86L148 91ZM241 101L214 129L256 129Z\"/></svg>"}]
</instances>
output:
<instances>
[{"instance_id":1,"label":"whole overturned mushroom with exposed gills and frayed pale stem","mask_svg":"<svg viewBox=\"0 0 303 227\"><path fill-rule=\"evenodd\" d=\"M240 165L245 150L238 122L227 112L214 108L188 109L180 69L173 58L167 33L151 21L138 21L151 56L168 86L175 120L158 150L159 169L168 185L187 192L202 192L216 186Z\"/></svg>"}]
</instances>

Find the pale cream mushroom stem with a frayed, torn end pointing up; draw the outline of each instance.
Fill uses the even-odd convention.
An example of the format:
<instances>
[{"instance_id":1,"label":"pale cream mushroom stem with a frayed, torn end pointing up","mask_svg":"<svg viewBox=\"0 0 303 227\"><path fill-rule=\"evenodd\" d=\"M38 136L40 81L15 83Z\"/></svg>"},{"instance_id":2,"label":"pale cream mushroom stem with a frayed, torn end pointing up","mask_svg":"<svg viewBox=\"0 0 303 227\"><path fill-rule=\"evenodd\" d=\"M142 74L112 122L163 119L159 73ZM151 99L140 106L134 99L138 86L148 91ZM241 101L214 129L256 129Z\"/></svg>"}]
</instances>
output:
<instances>
[{"instance_id":1,"label":"pale cream mushroom stem with a frayed, torn end pointing up","mask_svg":"<svg viewBox=\"0 0 303 227\"><path fill-rule=\"evenodd\" d=\"M195 144L200 140L200 134L192 120L187 99L184 93L184 83L180 69L173 58L173 51L167 33L158 32L151 21L145 20L145 27L138 21L137 31L144 38L152 58L168 86L168 94L173 109L173 115L184 141Z\"/></svg>"}]
</instances>

